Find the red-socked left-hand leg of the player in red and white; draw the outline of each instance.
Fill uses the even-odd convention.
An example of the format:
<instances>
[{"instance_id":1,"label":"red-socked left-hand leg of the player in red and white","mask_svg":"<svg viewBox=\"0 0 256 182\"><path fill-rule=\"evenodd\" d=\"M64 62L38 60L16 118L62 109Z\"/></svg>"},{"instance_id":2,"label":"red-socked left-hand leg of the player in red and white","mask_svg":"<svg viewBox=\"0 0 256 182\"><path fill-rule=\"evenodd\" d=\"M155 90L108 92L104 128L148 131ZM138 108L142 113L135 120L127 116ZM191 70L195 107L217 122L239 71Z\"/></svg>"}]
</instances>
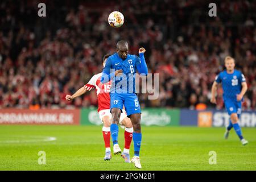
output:
<instances>
[{"instance_id":1,"label":"red-socked left-hand leg of the player in red and white","mask_svg":"<svg viewBox=\"0 0 256 182\"><path fill-rule=\"evenodd\" d=\"M102 127L102 134L105 142L105 157L104 160L110 160L111 156L111 148L110 148L110 117L105 115L102 118L103 127Z\"/></svg>"}]
</instances>

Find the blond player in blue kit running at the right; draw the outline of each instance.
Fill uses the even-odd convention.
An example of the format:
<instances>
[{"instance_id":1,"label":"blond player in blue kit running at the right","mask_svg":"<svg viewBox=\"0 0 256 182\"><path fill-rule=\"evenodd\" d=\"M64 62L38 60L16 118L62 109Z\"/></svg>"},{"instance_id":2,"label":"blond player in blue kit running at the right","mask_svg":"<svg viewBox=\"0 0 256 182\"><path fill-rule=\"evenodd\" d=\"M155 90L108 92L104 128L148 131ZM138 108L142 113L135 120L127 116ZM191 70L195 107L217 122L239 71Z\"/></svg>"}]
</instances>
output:
<instances>
[{"instance_id":1,"label":"blond player in blue kit running at the right","mask_svg":"<svg viewBox=\"0 0 256 182\"><path fill-rule=\"evenodd\" d=\"M247 90L247 84L245 76L240 71L234 69L234 59L230 56L225 58L226 70L222 71L213 82L212 85L212 98L210 102L216 104L216 89L217 84L222 84L223 89L223 100L225 103L226 110L230 115L229 125L226 127L225 138L228 139L229 131L234 127L238 137L240 138L243 145L248 142L242 137L242 131L238 124L238 119L241 116L241 107L243 95Z\"/></svg>"}]
</instances>

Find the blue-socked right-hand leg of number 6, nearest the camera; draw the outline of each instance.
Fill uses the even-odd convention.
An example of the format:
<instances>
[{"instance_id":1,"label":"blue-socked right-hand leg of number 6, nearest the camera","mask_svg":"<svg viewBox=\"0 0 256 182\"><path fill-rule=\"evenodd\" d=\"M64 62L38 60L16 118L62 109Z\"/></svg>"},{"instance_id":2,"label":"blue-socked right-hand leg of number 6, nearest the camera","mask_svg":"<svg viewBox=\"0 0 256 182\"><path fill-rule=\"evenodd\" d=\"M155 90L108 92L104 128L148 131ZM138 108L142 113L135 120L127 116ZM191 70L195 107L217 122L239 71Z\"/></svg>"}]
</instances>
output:
<instances>
[{"instance_id":1,"label":"blue-socked right-hand leg of number 6, nearest the camera","mask_svg":"<svg viewBox=\"0 0 256 182\"><path fill-rule=\"evenodd\" d=\"M134 163L135 167L141 169L141 161L139 159L139 151L141 149L141 113L130 115L131 123L133 124L133 141L134 141L134 156L131 162Z\"/></svg>"}]
</instances>

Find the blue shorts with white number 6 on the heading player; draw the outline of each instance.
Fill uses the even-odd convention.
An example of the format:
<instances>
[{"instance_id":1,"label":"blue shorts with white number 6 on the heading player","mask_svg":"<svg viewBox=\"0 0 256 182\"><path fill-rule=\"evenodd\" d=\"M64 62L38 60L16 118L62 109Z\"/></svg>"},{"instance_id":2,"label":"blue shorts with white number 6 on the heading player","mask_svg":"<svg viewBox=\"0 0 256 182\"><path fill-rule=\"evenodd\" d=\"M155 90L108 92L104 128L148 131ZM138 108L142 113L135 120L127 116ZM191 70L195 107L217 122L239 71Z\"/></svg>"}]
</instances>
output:
<instances>
[{"instance_id":1,"label":"blue shorts with white number 6 on the heading player","mask_svg":"<svg viewBox=\"0 0 256 182\"><path fill-rule=\"evenodd\" d=\"M135 93L110 93L110 111L112 108L119 108L122 111L123 105L127 116L141 113L141 106Z\"/></svg>"}]
</instances>

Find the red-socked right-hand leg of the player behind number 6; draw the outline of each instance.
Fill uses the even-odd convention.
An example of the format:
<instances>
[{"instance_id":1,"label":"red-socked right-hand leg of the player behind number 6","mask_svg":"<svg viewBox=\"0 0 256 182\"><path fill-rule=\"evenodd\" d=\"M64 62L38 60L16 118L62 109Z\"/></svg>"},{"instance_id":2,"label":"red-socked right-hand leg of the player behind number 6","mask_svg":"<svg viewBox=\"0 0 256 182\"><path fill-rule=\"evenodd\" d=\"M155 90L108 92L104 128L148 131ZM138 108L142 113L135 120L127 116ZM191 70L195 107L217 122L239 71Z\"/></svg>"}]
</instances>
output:
<instances>
[{"instance_id":1,"label":"red-socked right-hand leg of the player behind number 6","mask_svg":"<svg viewBox=\"0 0 256 182\"><path fill-rule=\"evenodd\" d=\"M125 126L125 147L123 148L121 156L125 159L126 163L130 163L130 145L131 140L133 139L133 124L131 123L130 118L127 117L121 122L122 125Z\"/></svg>"}]
</instances>

